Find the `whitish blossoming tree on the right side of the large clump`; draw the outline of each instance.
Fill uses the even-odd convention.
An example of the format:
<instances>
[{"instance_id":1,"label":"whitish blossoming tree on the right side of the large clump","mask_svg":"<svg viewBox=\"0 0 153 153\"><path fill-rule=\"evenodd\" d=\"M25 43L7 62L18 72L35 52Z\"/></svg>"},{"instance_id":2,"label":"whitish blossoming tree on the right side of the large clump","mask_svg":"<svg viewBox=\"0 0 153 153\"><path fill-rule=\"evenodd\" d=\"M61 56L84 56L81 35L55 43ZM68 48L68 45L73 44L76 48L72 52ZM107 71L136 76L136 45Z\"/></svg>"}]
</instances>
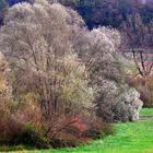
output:
<instances>
[{"instance_id":1,"label":"whitish blossoming tree on the right side of the large clump","mask_svg":"<svg viewBox=\"0 0 153 153\"><path fill-rule=\"evenodd\" d=\"M139 119L142 102L139 93L125 82L123 58L118 51L120 34L116 30L98 27L84 31L76 42L78 52L91 72L91 85L96 89L97 115L111 121Z\"/></svg>"}]
</instances>

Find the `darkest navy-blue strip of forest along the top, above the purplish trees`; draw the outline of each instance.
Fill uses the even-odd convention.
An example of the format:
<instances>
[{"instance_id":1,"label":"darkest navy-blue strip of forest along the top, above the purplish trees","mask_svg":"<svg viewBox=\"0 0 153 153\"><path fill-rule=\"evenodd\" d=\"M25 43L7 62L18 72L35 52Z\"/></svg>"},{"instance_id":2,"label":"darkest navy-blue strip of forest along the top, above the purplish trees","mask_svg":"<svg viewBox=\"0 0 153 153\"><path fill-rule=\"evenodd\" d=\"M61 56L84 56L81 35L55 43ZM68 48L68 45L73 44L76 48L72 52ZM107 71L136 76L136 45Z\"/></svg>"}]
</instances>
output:
<instances>
[{"instance_id":1,"label":"darkest navy-blue strip of forest along the top, above the purplish trees","mask_svg":"<svg viewBox=\"0 0 153 153\"><path fill-rule=\"evenodd\" d=\"M13 5L30 0L1 0L1 3ZM52 1L52 0L49 0ZM153 20L153 2L148 0L57 0L58 2L75 9L85 20L87 26L93 28L98 25L119 27L128 16L140 14L143 23Z\"/></svg>"}]
</instances>

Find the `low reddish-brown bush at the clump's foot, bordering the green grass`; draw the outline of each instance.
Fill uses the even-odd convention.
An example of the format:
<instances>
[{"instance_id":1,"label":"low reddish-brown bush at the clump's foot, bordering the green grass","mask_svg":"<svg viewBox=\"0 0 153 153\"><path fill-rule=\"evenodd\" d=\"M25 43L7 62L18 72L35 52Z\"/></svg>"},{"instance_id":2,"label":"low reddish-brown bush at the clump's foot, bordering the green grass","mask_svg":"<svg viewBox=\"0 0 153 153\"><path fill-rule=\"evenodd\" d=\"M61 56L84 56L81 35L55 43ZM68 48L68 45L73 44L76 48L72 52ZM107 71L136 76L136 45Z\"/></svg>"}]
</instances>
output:
<instances>
[{"instance_id":1,"label":"low reddish-brown bush at the clump's foot, bordering the green grass","mask_svg":"<svg viewBox=\"0 0 153 153\"><path fill-rule=\"evenodd\" d=\"M90 143L91 139L99 139L114 131L111 125L93 116L66 118L59 125L60 128L56 128L56 130L60 129L57 134L52 137L52 133L56 133L56 131L50 130L49 132L50 144L54 148L78 146Z\"/></svg>"}]
</instances>

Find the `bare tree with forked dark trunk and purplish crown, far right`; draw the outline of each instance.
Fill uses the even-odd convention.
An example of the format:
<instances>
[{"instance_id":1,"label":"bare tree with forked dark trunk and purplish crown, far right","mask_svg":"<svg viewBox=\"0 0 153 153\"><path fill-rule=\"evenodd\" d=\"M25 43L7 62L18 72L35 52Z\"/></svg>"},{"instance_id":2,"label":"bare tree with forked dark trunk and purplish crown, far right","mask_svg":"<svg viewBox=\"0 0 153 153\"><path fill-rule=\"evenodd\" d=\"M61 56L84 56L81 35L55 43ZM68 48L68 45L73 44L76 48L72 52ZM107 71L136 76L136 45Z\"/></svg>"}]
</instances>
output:
<instances>
[{"instance_id":1,"label":"bare tree with forked dark trunk and purplish crown, far right","mask_svg":"<svg viewBox=\"0 0 153 153\"><path fill-rule=\"evenodd\" d=\"M152 23L144 25L139 14L129 16L122 25L125 33L123 50L132 54L138 74L148 78L153 69L153 31ZM125 42L127 40L127 45Z\"/></svg>"}]
</instances>

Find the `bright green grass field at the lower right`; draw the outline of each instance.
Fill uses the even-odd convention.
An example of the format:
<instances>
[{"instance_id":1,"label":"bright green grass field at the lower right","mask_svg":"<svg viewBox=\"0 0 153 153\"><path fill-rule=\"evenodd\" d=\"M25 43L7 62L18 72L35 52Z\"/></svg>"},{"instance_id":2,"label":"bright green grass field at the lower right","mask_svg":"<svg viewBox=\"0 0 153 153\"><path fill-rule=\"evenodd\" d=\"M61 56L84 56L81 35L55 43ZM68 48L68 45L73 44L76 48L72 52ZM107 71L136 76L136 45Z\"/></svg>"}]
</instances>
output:
<instances>
[{"instance_id":1,"label":"bright green grass field at the lower right","mask_svg":"<svg viewBox=\"0 0 153 153\"><path fill-rule=\"evenodd\" d=\"M153 109L141 110L142 116L152 116ZM36 153L153 153L153 119L138 122L116 123L116 132L90 145L75 149L32 151Z\"/></svg>"}]
</instances>

